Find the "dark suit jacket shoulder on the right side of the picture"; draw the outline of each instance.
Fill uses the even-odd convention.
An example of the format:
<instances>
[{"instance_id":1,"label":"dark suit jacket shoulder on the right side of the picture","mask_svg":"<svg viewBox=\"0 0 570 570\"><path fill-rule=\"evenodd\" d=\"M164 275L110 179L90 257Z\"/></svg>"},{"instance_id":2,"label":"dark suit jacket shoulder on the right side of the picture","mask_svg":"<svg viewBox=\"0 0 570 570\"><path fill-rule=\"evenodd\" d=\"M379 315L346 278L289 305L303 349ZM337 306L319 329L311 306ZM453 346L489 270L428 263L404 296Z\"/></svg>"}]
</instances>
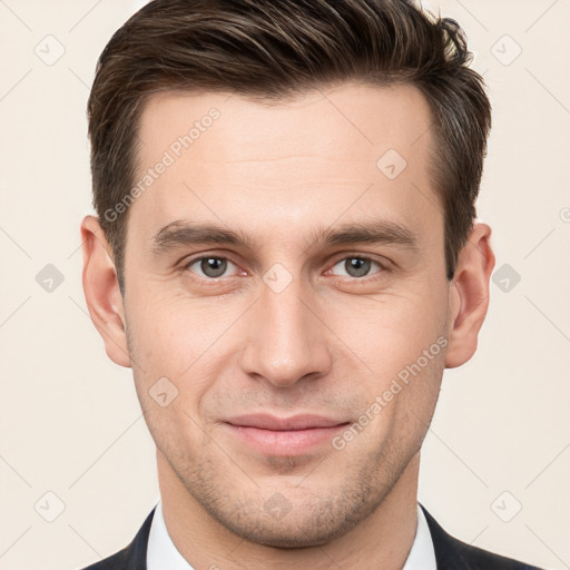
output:
<instances>
[{"instance_id":1,"label":"dark suit jacket shoulder on the right side of the picture","mask_svg":"<svg viewBox=\"0 0 570 570\"><path fill-rule=\"evenodd\" d=\"M494 554L451 537L424 507L421 507L432 535L438 570L540 570L534 566Z\"/></svg>"}]
</instances>

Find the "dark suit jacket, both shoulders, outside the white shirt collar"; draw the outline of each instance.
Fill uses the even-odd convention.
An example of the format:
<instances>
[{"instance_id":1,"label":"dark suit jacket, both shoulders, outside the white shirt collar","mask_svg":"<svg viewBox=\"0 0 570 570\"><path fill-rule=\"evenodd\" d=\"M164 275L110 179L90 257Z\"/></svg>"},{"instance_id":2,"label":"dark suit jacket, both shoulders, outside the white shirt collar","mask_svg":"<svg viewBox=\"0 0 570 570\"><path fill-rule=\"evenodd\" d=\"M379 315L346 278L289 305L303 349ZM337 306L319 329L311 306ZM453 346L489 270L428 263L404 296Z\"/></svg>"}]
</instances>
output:
<instances>
[{"instance_id":1,"label":"dark suit jacket, both shoulders, outside the white shirt collar","mask_svg":"<svg viewBox=\"0 0 570 570\"><path fill-rule=\"evenodd\" d=\"M500 557L454 539L423 507L422 509L430 527L438 570L539 570L534 566ZM147 570L147 541L154 514L155 509L128 547L83 570Z\"/></svg>"}]
</instances>

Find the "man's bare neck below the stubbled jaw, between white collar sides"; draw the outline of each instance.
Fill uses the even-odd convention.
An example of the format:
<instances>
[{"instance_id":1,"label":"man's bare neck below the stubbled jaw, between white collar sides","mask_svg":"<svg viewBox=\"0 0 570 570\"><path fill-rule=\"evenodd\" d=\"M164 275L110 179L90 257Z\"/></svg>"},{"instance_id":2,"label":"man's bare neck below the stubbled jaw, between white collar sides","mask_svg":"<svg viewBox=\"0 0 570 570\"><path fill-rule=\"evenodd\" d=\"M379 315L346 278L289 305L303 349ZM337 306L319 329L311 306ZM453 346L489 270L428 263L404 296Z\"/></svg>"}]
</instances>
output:
<instances>
[{"instance_id":1,"label":"man's bare neck below the stubbled jaw, between white collar sides","mask_svg":"<svg viewBox=\"0 0 570 570\"><path fill-rule=\"evenodd\" d=\"M237 537L196 502L158 450L157 462L168 534L194 568L401 570L414 541L420 453L366 519L333 542L301 549L273 548Z\"/></svg>"}]
</instances>

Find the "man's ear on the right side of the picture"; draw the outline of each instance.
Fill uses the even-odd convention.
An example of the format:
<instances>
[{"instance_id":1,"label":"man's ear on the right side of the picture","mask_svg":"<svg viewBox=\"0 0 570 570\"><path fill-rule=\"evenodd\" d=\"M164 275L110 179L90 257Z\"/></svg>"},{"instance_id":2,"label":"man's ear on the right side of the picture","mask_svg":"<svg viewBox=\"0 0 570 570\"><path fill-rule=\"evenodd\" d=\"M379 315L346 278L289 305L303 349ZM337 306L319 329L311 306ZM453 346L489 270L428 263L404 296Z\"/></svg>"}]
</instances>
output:
<instances>
[{"instance_id":1,"label":"man's ear on the right side of the picture","mask_svg":"<svg viewBox=\"0 0 570 570\"><path fill-rule=\"evenodd\" d=\"M468 362L476 351L479 331L489 307L489 282L494 267L491 228L475 224L460 252L450 283L450 321L445 367Z\"/></svg>"}]
</instances>

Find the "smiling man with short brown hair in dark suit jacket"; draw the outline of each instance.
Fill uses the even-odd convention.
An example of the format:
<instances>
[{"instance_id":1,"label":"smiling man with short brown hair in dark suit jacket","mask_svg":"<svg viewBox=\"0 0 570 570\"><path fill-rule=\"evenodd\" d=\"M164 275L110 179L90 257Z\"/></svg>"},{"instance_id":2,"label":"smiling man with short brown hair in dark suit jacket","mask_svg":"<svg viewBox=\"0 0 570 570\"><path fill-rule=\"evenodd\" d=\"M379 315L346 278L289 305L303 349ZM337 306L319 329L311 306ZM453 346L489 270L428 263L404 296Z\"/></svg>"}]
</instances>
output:
<instances>
[{"instance_id":1,"label":"smiling man with short brown hair in dark suit jacket","mask_svg":"<svg viewBox=\"0 0 570 570\"><path fill-rule=\"evenodd\" d=\"M402 0L156 0L110 40L83 287L161 500L89 568L531 568L417 504L494 265L469 61Z\"/></svg>"}]
</instances>

